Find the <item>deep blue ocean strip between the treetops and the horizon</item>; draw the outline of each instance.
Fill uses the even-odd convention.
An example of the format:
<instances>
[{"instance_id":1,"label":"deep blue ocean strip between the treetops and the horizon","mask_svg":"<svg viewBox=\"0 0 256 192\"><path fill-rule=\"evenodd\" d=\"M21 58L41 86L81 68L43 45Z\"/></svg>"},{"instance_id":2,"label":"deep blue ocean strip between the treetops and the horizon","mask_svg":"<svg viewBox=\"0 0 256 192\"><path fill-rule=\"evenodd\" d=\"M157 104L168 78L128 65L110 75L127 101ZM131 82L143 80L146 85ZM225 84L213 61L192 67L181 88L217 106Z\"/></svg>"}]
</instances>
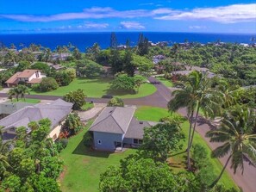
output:
<instances>
[{"instance_id":1,"label":"deep blue ocean strip between the treetops and the horizon","mask_svg":"<svg viewBox=\"0 0 256 192\"><path fill-rule=\"evenodd\" d=\"M131 46L135 46L138 41L139 32L117 32L116 37L119 45L124 45L126 40L131 41ZM168 41L170 45L175 42L184 42L189 40L190 42L207 43L216 40L222 42L232 43L250 43L250 39L255 34L196 34L196 33L169 33L169 32L144 32L147 39L158 42ZM18 48L22 43L24 46L29 46L31 43L41 44L41 46L50 47L52 50L56 46L64 46L69 42L74 46L78 46L81 52L84 52L85 48L92 46L97 42L101 48L109 47L110 33L67 33L67 34L0 34L0 42L5 46L9 46L14 43Z\"/></svg>"}]
</instances>

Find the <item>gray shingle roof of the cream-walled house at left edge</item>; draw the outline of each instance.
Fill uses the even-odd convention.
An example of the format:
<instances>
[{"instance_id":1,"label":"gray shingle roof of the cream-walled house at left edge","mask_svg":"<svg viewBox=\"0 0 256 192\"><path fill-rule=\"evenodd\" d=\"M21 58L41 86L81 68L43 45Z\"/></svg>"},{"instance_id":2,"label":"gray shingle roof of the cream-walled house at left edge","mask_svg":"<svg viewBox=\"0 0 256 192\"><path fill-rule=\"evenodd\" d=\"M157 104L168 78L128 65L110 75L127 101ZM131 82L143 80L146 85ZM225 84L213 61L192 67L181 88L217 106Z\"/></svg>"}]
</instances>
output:
<instances>
[{"instance_id":1,"label":"gray shingle roof of the cream-walled house at left edge","mask_svg":"<svg viewBox=\"0 0 256 192\"><path fill-rule=\"evenodd\" d=\"M63 121L66 116L72 111L72 103L59 101L51 104L36 104L22 108L15 113L0 120L0 126L3 130L10 127L27 127L30 121L39 121L48 118L51 122L51 128L56 127L60 121Z\"/></svg>"}]
</instances>

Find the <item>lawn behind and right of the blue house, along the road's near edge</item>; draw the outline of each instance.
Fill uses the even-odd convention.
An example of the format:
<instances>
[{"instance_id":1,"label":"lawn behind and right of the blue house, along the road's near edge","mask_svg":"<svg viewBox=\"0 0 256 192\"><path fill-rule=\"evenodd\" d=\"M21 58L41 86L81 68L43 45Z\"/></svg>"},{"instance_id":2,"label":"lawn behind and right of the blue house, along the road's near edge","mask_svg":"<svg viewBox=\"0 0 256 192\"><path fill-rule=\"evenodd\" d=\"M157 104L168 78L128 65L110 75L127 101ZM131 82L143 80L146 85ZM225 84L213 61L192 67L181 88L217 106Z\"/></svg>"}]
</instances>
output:
<instances>
[{"instance_id":1,"label":"lawn behind and right of the blue house, along the road's near edge","mask_svg":"<svg viewBox=\"0 0 256 192\"><path fill-rule=\"evenodd\" d=\"M165 108L151 108L151 107L141 107L138 108L135 112L135 116L139 120L144 121L159 121L160 118L170 115L168 111ZM180 152L174 152L174 154L178 154L175 156L172 156L169 159L169 163L172 166L172 169L175 172L178 172L179 170L184 170L185 164L186 164L186 153L184 152L187 145L187 138L189 133L189 122L185 121L182 125L182 130L185 134L186 139L184 140L184 147ZM200 134L195 133L193 145L199 144L200 146L204 146L207 149L207 152L209 153L209 159L210 163L213 164L214 170L213 173L218 176L218 174L221 173L222 170L222 164L217 158L210 158L210 152L211 149L207 145L207 143L204 141L204 139L201 137ZM234 183L234 180L228 175L228 172L225 171L222 175L221 183L223 183L227 188L236 188L237 186Z\"/></svg>"}]
</instances>

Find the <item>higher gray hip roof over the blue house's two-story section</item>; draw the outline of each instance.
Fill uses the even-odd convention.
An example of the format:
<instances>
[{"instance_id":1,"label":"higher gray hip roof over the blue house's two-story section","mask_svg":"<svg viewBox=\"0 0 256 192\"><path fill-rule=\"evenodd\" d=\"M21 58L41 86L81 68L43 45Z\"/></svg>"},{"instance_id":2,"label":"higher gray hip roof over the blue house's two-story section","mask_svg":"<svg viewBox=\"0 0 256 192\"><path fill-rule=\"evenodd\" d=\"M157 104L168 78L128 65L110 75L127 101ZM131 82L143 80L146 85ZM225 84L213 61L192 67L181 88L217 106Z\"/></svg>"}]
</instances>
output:
<instances>
[{"instance_id":1,"label":"higher gray hip roof over the blue house's two-story section","mask_svg":"<svg viewBox=\"0 0 256 192\"><path fill-rule=\"evenodd\" d=\"M134 108L106 107L90 127L90 131L126 133L134 116Z\"/></svg>"}]
</instances>

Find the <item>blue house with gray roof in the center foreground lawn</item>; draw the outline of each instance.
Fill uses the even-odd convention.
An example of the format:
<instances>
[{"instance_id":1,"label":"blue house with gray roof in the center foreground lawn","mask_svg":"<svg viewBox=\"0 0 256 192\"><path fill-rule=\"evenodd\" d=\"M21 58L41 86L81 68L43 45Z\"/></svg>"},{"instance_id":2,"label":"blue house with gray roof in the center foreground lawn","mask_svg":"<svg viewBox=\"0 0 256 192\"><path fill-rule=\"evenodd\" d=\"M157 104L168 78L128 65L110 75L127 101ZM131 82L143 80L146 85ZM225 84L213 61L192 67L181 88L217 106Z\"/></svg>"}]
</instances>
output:
<instances>
[{"instance_id":1,"label":"blue house with gray roof in the center foreground lawn","mask_svg":"<svg viewBox=\"0 0 256 192\"><path fill-rule=\"evenodd\" d=\"M143 141L144 127L157 122L137 121L134 108L106 107L90 127L94 148L104 151L122 150L125 145L138 146Z\"/></svg>"}]
</instances>

